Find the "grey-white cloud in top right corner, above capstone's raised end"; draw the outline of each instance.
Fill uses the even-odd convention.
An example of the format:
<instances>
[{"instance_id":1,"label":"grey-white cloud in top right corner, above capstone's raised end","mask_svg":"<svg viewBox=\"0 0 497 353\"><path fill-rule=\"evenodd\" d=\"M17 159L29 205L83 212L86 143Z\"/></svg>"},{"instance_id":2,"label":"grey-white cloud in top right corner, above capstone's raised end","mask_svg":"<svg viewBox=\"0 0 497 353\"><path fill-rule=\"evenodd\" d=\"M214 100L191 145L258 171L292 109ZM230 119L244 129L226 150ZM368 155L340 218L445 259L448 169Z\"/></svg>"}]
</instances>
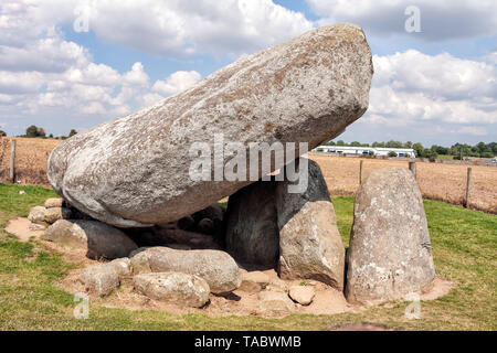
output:
<instances>
[{"instance_id":1,"label":"grey-white cloud in top right corner, above capstone's raised end","mask_svg":"<svg viewBox=\"0 0 497 353\"><path fill-rule=\"evenodd\" d=\"M405 34L404 13L416 6L421 14L422 39L441 41L497 34L497 1L495 0L306 0L313 11L322 17L319 24L353 22L366 33Z\"/></svg>"}]
</instances>

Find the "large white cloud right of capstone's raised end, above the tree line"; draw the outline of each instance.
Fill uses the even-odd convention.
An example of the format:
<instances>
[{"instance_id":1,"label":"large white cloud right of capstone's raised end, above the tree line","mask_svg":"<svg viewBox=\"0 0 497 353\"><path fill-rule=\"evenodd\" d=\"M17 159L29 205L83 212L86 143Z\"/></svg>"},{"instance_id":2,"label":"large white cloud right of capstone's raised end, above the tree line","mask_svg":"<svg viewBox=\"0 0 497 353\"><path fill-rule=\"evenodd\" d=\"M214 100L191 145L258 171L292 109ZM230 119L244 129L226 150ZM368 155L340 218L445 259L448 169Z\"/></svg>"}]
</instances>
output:
<instances>
[{"instance_id":1,"label":"large white cloud right of capstone's raised end, above the tree line","mask_svg":"<svg viewBox=\"0 0 497 353\"><path fill-rule=\"evenodd\" d=\"M369 124L497 124L495 65L413 50L374 55L373 64L370 106L364 117ZM467 132L475 135L482 129L475 127Z\"/></svg>"}]
</instances>

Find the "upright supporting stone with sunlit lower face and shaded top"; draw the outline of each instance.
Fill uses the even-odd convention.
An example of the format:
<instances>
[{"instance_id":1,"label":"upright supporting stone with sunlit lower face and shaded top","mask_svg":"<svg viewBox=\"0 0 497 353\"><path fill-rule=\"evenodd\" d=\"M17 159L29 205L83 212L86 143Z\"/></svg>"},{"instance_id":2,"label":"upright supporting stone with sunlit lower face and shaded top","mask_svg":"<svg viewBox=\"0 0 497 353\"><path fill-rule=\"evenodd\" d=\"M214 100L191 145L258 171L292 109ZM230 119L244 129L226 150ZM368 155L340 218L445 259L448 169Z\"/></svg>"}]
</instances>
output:
<instances>
[{"instance_id":1,"label":"upright supporting stone with sunlit lower face and shaded top","mask_svg":"<svg viewBox=\"0 0 497 353\"><path fill-rule=\"evenodd\" d=\"M289 193L287 180L276 188L279 276L316 279L341 290L345 247L334 205L319 165L307 162L308 186L304 193Z\"/></svg>"}]
</instances>

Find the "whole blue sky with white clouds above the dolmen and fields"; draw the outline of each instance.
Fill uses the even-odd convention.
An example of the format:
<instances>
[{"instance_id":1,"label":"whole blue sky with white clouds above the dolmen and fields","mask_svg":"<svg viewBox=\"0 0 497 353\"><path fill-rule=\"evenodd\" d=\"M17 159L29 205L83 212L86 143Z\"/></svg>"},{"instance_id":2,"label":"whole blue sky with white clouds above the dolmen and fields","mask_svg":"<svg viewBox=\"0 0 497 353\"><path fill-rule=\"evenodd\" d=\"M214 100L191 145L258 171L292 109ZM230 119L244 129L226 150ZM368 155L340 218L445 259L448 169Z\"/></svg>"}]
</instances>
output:
<instances>
[{"instance_id":1,"label":"whole blue sky with white clouds above the dolmen and fields","mask_svg":"<svg viewBox=\"0 0 497 353\"><path fill-rule=\"evenodd\" d=\"M339 22L363 29L374 76L337 139L497 140L495 0L1 0L0 129L83 131Z\"/></svg>"}]
</instances>

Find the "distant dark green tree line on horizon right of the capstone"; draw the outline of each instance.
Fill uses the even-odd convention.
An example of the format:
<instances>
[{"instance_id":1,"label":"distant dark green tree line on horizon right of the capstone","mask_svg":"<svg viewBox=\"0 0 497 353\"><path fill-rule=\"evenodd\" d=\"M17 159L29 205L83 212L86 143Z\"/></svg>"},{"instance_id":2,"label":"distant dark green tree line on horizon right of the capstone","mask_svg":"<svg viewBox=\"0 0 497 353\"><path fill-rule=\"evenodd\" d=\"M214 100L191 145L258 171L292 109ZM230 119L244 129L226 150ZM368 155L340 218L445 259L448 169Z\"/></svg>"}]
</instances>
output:
<instances>
[{"instance_id":1,"label":"distant dark green tree line on horizon right of the capstone","mask_svg":"<svg viewBox=\"0 0 497 353\"><path fill-rule=\"evenodd\" d=\"M434 159L438 156L452 156L453 159L463 159L464 157L480 157L480 158L493 158L497 156L497 143L496 142L478 142L475 146L470 146L467 143L455 143L451 147L443 147L438 145L433 145L430 148L423 147L420 142L401 142L390 140L387 142L372 142L370 143L361 143L359 141L352 141L350 143L345 142L343 140L338 141L329 141L325 143L326 146L350 146L350 147L387 147L387 148L412 148L416 156L420 158L429 158Z\"/></svg>"}]
</instances>

